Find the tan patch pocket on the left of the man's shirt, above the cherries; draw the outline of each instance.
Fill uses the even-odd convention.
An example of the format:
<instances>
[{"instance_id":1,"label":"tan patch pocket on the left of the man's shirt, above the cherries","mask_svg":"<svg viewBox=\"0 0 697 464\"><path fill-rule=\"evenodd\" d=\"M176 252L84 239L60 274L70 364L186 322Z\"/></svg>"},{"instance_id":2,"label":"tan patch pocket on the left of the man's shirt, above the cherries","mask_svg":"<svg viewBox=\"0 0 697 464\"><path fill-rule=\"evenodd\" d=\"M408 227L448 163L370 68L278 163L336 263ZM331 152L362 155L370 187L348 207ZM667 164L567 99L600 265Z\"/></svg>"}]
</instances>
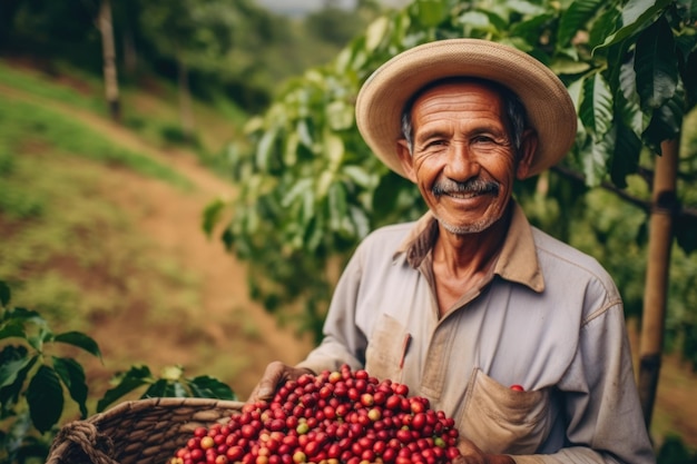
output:
<instances>
[{"instance_id":1,"label":"tan patch pocket on the left of the man's shirt, above the cherries","mask_svg":"<svg viewBox=\"0 0 697 464\"><path fill-rule=\"evenodd\" d=\"M409 340L404 326L382 314L365 348L365 371L380 379L402 382L402 364Z\"/></svg>"}]
</instances>

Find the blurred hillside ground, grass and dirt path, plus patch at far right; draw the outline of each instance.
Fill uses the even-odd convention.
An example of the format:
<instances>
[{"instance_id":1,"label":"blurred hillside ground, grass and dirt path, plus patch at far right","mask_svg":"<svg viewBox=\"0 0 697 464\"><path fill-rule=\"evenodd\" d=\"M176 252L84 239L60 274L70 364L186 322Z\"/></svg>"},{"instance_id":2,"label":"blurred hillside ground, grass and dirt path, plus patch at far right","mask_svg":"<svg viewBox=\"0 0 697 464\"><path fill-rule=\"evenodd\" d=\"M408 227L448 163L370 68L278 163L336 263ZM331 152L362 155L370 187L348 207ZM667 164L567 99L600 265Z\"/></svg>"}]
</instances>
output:
<instances>
[{"instance_id":1,"label":"blurred hillside ground, grass and dirt path, plus patch at far right","mask_svg":"<svg viewBox=\"0 0 697 464\"><path fill-rule=\"evenodd\" d=\"M202 231L205 206L235 188L195 150L153 135L156 120L176 122L166 91L127 93L127 120L140 122L117 125L99 106L98 82L11 68L0 67L0 139L13 137L0 146L11 159L0 162L0 197L21 187L29 206L10 214L0 204L0 278L18 284L17 303L37 305L59 326L97 339L105 363L90 362L91 388L104 391L111 374L134 363L154 371L180 364L192 375L220 378L244 398L266 363L294 363L307 353L307 340L249 299L244 263ZM42 111L50 122L38 119ZM235 131L219 112L199 108L197 116L212 146ZM76 155L82 148L57 146L51 128L60 139L78 128L130 158ZM41 235L63 223L60 234ZM694 373L666 359L656 436L677 433L697 447L696 386Z\"/></svg>"}]
</instances>

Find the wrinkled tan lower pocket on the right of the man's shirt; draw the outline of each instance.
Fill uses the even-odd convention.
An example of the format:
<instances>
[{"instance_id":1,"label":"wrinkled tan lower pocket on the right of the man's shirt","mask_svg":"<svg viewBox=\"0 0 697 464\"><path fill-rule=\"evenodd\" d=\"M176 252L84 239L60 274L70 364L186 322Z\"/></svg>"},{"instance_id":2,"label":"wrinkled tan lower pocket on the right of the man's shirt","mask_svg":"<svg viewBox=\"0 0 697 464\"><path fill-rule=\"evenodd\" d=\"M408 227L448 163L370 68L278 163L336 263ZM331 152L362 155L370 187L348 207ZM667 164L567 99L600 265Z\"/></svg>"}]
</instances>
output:
<instances>
[{"instance_id":1,"label":"wrinkled tan lower pocket on the right of the man's shirt","mask_svg":"<svg viewBox=\"0 0 697 464\"><path fill-rule=\"evenodd\" d=\"M550 389L519 392L474 369L460 431L487 453L534 454L552 425Z\"/></svg>"}]
</instances>

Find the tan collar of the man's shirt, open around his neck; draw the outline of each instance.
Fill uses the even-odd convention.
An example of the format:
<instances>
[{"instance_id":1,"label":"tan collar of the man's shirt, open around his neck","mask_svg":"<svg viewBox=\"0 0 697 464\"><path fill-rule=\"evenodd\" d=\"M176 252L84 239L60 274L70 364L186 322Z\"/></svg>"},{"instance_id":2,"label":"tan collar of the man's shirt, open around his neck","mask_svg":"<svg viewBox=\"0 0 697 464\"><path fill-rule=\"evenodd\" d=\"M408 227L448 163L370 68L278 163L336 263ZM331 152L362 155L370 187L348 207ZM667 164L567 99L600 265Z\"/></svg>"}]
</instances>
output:
<instances>
[{"instance_id":1,"label":"tan collar of the man's shirt, open around his neck","mask_svg":"<svg viewBox=\"0 0 697 464\"><path fill-rule=\"evenodd\" d=\"M404 255L406 263L418 268L431 253L436 238L438 221L431 211L426 211L395 250L394 258ZM538 293L544 289L544 278L538 263L532 227L516 201L513 201L511 225L493 274L505 280L526 285Z\"/></svg>"}]
</instances>

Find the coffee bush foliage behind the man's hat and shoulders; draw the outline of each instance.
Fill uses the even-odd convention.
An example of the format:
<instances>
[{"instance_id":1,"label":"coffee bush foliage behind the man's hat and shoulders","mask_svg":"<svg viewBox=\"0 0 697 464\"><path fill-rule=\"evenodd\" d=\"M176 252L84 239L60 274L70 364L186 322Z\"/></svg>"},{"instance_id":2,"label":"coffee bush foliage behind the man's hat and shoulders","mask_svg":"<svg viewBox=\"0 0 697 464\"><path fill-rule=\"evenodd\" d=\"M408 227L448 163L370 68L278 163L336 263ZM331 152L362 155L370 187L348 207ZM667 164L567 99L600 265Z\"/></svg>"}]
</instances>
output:
<instances>
[{"instance_id":1,"label":"coffee bush foliage behind the man's hat and shoulders","mask_svg":"<svg viewBox=\"0 0 697 464\"><path fill-rule=\"evenodd\" d=\"M335 269L353 247L370 230L425 209L418 190L363 144L353 120L360 86L419 43L489 39L548 65L578 110L572 152L560 169L519 184L519 200L534 225L598 257L626 296L627 314L639 316L654 160L662 140L694 127L683 119L697 101L695 13L690 2L667 0L412 1L373 21L330 63L287 82L249 120L249 147L234 145L228 154L240 195L212 203L204 227L226 224L222 239L251 264L252 295L318 340ZM684 209L671 275L669 318L680 323L668 335L669 346L697 362L693 140L680 155Z\"/></svg>"}]
</instances>

